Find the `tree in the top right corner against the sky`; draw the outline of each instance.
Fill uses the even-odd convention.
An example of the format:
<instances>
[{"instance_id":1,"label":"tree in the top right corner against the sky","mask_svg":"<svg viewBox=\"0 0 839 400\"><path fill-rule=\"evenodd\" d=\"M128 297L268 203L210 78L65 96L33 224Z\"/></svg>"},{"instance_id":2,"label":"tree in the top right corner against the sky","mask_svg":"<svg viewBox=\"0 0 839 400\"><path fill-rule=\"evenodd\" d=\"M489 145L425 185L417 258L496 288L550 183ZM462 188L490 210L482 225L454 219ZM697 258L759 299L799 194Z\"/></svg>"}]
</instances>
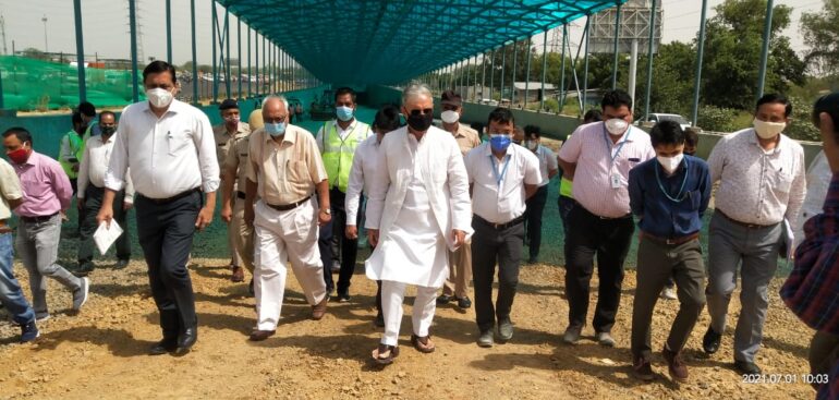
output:
<instances>
[{"instance_id":1,"label":"tree in the top right corner against the sky","mask_svg":"<svg viewBox=\"0 0 839 400\"><path fill-rule=\"evenodd\" d=\"M839 0L824 0L819 12L801 13L801 33L808 49L804 54L811 72L839 74Z\"/></svg>"}]
</instances>

